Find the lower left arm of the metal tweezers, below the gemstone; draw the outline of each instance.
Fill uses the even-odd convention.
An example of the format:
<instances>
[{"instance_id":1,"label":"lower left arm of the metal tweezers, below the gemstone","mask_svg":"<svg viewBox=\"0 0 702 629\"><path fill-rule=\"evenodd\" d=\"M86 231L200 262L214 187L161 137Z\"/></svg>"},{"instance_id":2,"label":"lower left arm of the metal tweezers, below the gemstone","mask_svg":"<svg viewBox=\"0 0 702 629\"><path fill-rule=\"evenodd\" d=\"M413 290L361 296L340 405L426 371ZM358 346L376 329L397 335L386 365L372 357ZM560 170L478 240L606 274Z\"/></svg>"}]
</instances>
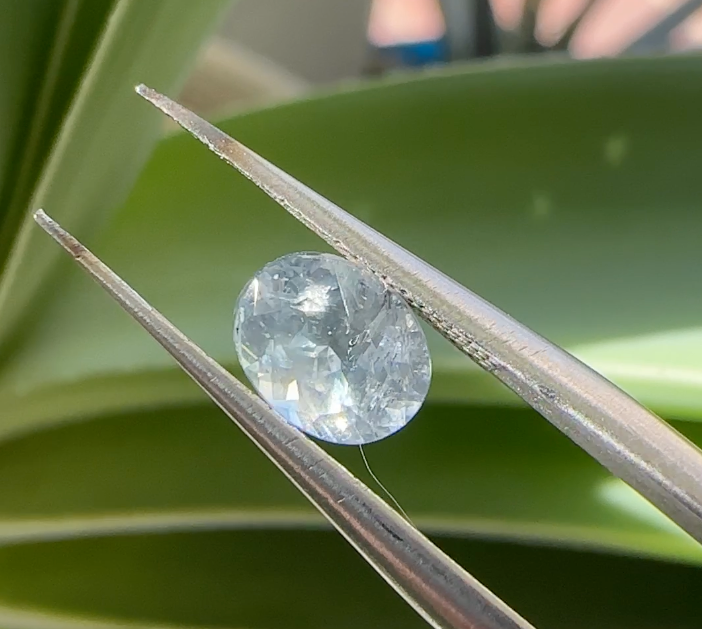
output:
<instances>
[{"instance_id":1,"label":"lower left arm of the metal tweezers, below the gemstone","mask_svg":"<svg viewBox=\"0 0 702 629\"><path fill-rule=\"evenodd\" d=\"M533 629L311 439L288 425L43 211L34 217L429 624L441 629Z\"/></svg>"}]
</instances>

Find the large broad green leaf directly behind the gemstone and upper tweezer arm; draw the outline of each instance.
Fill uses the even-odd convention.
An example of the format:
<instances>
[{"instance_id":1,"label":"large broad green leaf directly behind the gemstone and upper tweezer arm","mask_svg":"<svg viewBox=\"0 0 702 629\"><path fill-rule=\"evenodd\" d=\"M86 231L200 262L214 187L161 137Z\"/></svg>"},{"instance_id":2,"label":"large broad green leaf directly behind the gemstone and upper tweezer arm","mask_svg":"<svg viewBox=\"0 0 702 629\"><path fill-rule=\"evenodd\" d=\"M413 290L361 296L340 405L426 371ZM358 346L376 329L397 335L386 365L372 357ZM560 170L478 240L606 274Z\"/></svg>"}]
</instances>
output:
<instances>
[{"instance_id":1,"label":"large broad green leaf directly behind the gemstone and upper tweezer arm","mask_svg":"<svg viewBox=\"0 0 702 629\"><path fill-rule=\"evenodd\" d=\"M486 65L222 126L659 412L697 419L700 78L699 57ZM42 237L37 246L50 250ZM276 256L323 246L178 136L159 146L94 248L231 365L231 313L247 278ZM434 400L515 403L443 340L430 341ZM14 417L5 427L95 412L101 401L107 411L130 399L192 400L173 369L72 269L0 376Z\"/></svg>"}]
</instances>

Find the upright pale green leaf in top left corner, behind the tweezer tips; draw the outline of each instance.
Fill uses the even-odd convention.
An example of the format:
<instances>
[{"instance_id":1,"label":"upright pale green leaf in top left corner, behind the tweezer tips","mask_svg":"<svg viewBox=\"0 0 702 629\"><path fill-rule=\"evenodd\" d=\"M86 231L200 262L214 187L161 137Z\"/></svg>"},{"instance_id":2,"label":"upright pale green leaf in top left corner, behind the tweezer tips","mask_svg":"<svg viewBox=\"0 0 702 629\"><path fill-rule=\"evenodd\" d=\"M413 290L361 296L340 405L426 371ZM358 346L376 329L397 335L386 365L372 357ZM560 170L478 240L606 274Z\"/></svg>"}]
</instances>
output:
<instances>
[{"instance_id":1,"label":"upright pale green leaf in top left corner, behind the tweezer tips","mask_svg":"<svg viewBox=\"0 0 702 629\"><path fill-rule=\"evenodd\" d=\"M67 0L58 4L65 15L58 19L54 46L44 60L44 84L37 89L32 83L31 88L38 96L35 113L40 119L25 124L28 140L16 149L18 188L10 194L3 212L3 341L26 316L29 303L60 255L56 248L45 246L28 210L44 206L83 235L101 224L126 196L162 128L158 115L132 93L133 86L147 81L170 90L183 78L184 64L228 3L121 0L110 6L104 0L98 4ZM30 2L32 5L37 2ZM104 31L91 50L91 35L103 27L96 16L105 15L108 7ZM50 11L49 16L51 20ZM44 14L39 15L37 24L44 19ZM92 31L86 35L88 24ZM35 63L33 68L37 65L41 67ZM52 129L47 123L58 122L56 114L68 103L78 67L85 67L85 74L71 95L60 129ZM56 141L43 162L54 135Z\"/></svg>"}]
</instances>

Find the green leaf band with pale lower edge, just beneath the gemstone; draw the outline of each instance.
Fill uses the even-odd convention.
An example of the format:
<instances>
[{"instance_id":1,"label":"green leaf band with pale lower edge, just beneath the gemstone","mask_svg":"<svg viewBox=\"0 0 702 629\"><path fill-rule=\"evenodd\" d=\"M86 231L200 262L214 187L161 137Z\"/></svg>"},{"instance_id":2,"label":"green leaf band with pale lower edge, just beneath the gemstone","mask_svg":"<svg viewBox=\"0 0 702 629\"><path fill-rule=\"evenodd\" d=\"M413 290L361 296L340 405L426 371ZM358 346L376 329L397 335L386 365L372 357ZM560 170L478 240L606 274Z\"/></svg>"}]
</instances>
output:
<instances>
[{"instance_id":1,"label":"green leaf band with pale lower edge, just beneath the gemstone","mask_svg":"<svg viewBox=\"0 0 702 629\"><path fill-rule=\"evenodd\" d=\"M702 427L687 424L702 442ZM356 448L328 449L374 483ZM702 564L702 549L531 410L429 405L368 446L413 521L442 534ZM214 406L120 414L0 446L0 545L105 532L320 526Z\"/></svg>"}]
</instances>

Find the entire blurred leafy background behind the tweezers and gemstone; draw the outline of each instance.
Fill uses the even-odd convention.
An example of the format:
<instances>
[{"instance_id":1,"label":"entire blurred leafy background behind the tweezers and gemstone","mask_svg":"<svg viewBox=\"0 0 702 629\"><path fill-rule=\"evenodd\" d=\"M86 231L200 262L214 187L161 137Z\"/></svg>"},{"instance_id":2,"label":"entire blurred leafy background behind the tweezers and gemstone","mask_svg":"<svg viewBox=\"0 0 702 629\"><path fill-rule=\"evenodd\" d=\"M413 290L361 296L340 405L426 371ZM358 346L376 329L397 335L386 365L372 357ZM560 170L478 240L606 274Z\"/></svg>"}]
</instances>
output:
<instances>
[{"instance_id":1,"label":"entire blurred leafy background behind the tweezers and gemstone","mask_svg":"<svg viewBox=\"0 0 702 629\"><path fill-rule=\"evenodd\" d=\"M425 626L34 226L243 378L237 294L328 249L136 84L702 444L701 45L702 0L3 0L0 628ZM702 548L428 341L366 448L413 522L538 629L700 629Z\"/></svg>"}]
</instances>

